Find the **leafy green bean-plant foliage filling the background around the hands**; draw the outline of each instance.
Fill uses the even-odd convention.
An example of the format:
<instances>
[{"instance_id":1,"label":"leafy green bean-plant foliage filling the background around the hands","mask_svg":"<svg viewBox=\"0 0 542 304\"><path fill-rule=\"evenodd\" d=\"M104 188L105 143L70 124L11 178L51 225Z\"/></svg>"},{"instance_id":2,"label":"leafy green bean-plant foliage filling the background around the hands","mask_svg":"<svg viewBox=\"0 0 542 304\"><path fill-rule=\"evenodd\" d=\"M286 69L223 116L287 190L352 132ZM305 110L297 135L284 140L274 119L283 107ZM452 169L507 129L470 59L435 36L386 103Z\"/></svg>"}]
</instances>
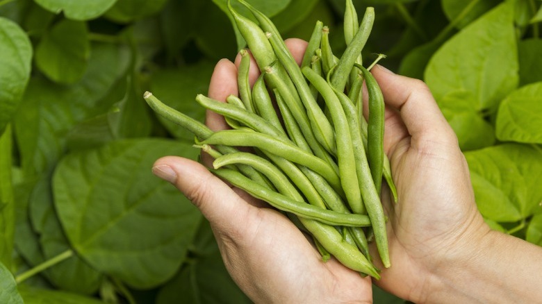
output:
<instances>
[{"instance_id":1,"label":"leafy green bean-plant foliage filling the background around the hands","mask_svg":"<svg viewBox=\"0 0 542 304\"><path fill-rule=\"evenodd\" d=\"M249 2L284 37L307 40L320 19L333 49L345 47L343 0ZM542 245L541 1L354 3L376 10L366 61L386 53L384 65L429 85L491 227ZM244 46L224 8L0 1L0 302L249 302L208 223L151 175L157 158L196 159L197 150L142 99L152 90L203 119L195 94L214 62ZM17 292L14 277L58 256ZM375 302L392 301L401 302L375 289Z\"/></svg>"}]
</instances>

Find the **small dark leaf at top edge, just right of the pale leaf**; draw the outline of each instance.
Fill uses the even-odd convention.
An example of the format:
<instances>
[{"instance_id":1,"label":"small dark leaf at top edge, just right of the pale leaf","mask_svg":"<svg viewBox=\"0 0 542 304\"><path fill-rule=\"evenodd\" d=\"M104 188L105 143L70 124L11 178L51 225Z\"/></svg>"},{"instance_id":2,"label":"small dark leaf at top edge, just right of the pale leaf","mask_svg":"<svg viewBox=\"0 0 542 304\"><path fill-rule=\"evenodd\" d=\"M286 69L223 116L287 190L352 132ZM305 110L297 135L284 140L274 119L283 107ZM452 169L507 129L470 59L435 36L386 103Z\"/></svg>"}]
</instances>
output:
<instances>
[{"instance_id":1,"label":"small dark leaf at top edge, just right of the pale leaf","mask_svg":"<svg viewBox=\"0 0 542 304\"><path fill-rule=\"evenodd\" d=\"M106 12L106 17L115 22L129 23L159 12L167 0L117 0Z\"/></svg>"}]
</instances>

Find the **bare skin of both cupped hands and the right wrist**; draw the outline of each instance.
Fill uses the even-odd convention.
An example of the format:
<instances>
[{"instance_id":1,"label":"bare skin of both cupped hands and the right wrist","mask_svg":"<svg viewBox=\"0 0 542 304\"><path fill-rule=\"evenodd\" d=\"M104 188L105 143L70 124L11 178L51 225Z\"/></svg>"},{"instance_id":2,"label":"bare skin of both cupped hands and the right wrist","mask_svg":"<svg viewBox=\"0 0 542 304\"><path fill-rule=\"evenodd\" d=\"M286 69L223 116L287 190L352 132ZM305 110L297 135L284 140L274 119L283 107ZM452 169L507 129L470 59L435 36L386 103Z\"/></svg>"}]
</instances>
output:
<instances>
[{"instance_id":1,"label":"bare skin of both cupped hands and the right wrist","mask_svg":"<svg viewBox=\"0 0 542 304\"><path fill-rule=\"evenodd\" d=\"M306 42L288 40L287 45L300 63ZM542 249L484 223L457 138L427 86L379 65L372 74L386 101L384 150L399 194L399 202L392 203L383 185L392 266L375 283L415 303L540 301ZM254 71L252 83L256 77ZM208 95L224 101L236 93L236 65L221 60ZM213 113L206 123L213 130L227 128ZM204 162L211 164L208 157ZM369 277L334 259L321 262L286 217L223 183L202 164L165 157L153 171L211 222L224 264L256 303L372 303Z\"/></svg>"}]
</instances>

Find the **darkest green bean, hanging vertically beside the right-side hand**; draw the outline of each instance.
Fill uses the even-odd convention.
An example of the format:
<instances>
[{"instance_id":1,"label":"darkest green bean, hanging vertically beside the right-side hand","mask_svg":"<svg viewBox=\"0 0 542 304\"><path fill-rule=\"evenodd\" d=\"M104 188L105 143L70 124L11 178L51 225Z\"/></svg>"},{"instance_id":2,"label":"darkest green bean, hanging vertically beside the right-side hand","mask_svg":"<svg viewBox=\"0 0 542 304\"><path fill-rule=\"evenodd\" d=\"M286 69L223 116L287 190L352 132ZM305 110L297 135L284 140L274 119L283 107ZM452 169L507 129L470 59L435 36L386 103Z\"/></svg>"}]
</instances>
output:
<instances>
[{"instance_id":1,"label":"darkest green bean, hanging vertically beside the right-side hand","mask_svg":"<svg viewBox=\"0 0 542 304\"><path fill-rule=\"evenodd\" d=\"M367 157L372 180L380 193L384 170L384 96L375 77L360 66L369 95L369 119L367 128Z\"/></svg>"}]
</instances>

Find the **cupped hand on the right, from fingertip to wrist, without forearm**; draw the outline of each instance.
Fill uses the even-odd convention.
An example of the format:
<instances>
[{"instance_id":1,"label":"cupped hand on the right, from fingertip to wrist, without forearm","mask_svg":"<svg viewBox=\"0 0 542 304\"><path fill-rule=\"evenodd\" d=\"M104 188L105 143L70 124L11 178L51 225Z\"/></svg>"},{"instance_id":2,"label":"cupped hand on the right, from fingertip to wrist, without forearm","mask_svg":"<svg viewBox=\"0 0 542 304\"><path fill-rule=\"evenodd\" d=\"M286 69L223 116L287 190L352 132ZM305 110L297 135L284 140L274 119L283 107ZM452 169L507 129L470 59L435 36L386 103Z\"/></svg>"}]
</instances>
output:
<instances>
[{"instance_id":1,"label":"cupped hand on the right, from fingertip to wrist, without forearm","mask_svg":"<svg viewBox=\"0 0 542 304\"><path fill-rule=\"evenodd\" d=\"M372 74L386 101L384 149L399 197L392 203L383 191L392 266L376 283L416 303L435 301L445 271L460 271L454 263L476 255L490 229L457 137L427 85L379 65Z\"/></svg>"}]
</instances>

